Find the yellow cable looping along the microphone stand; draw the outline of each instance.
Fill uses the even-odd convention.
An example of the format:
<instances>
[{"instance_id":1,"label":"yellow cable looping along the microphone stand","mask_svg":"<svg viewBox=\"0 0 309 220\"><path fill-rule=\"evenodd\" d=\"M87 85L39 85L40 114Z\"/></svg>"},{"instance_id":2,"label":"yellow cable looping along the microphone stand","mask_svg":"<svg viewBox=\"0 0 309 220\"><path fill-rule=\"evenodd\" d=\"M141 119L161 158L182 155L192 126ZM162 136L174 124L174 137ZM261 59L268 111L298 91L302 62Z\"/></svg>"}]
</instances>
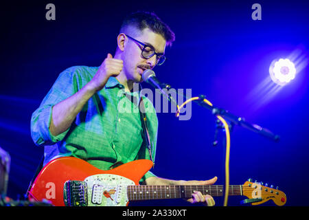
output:
<instances>
[{"instance_id":1,"label":"yellow cable looping along the microphone stand","mask_svg":"<svg viewBox=\"0 0 309 220\"><path fill-rule=\"evenodd\" d=\"M198 99L199 99L198 97L190 98L190 99L186 100L185 102L183 102L183 104L181 104L180 107L177 104L176 117L179 117L181 109L183 108L183 106L185 106L185 104L187 104L187 102L191 102L193 100L198 100ZM203 99L203 102L212 106L212 103L209 102L209 100L207 100L206 98ZM220 120L220 122L222 122L222 124L224 124L225 135L226 135L226 138L227 138L226 153L225 153L225 200L224 200L224 203L223 203L223 206L227 206L227 199L229 197L229 151L230 151L230 148L231 148L231 137L230 137L230 134L229 134L229 125L227 124L227 122L220 115L216 115L216 116L217 116L218 120Z\"/></svg>"}]
</instances>

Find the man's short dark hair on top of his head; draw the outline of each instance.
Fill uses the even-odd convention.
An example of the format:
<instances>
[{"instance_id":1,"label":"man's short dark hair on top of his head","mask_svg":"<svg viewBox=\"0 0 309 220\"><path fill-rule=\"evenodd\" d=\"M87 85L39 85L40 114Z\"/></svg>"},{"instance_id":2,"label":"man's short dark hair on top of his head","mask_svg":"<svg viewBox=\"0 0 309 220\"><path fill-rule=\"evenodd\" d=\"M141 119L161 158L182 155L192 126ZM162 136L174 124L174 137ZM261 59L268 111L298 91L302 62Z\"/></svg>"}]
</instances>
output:
<instances>
[{"instance_id":1,"label":"man's short dark hair on top of his head","mask_svg":"<svg viewBox=\"0 0 309 220\"><path fill-rule=\"evenodd\" d=\"M163 36L166 41L166 45L168 46L172 45L172 42L175 41L174 32L170 30L170 27L167 24L157 17L155 12L138 11L129 14L122 22L120 32L128 26L133 26L140 31L145 28L149 28L152 32Z\"/></svg>"}]
</instances>

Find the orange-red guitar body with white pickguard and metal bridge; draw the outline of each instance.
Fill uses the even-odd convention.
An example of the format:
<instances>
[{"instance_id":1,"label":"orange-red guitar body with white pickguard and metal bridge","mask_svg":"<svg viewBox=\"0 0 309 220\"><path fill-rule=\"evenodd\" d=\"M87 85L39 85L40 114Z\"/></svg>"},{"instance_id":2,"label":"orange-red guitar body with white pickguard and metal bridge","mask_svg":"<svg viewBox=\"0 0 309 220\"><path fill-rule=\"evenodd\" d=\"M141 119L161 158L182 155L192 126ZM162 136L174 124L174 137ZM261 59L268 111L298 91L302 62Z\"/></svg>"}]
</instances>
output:
<instances>
[{"instance_id":1,"label":"orange-red guitar body with white pickguard and metal bridge","mask_svg":"<svg viewBox=\"0 0 309 220\"><path fill-rule=\"evenodd\" d=\"M100 170L76 157L59 157L44 166L29 197L47 199L54 206L128 206L125 186L138 185L151 167L150 160L139 159L112 170Z\"/></svg>"}]
</instances>

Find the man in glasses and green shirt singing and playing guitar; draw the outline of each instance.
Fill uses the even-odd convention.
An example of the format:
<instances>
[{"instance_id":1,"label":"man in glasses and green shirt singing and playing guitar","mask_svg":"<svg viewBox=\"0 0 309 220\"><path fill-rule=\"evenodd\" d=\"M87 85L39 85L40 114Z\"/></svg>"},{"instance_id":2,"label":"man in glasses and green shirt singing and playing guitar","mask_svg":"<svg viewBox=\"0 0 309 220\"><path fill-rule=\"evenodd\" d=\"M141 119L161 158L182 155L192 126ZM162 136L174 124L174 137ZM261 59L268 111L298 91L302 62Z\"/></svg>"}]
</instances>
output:
<instances>
[{"instance_id":1,"label":"man in glasses and green shirt singing and playing guitar","mask_svg":"<svg viewBox=\"0 0 309 220\"><path fill-rule=\"evenodd\" d=\"M157 144L157 115L152 103L143 98L150 151L144 140L139 111L119 111L139 106L141 94L133 91L141 83L145 69L165 61L165 46L174 33L154 13L137 12L128 16L117 36L115 56L107 54L100 67L71 67L62 72L40 107L32 115L32 138L45 146L45 162L60 156L75 156L102 170L135 159L154 159ZM163 179L148 171L141 179L147 185L214 184L207 181ZM191 203L214 199L194 192Z\"/></svg>"}]
</instances>

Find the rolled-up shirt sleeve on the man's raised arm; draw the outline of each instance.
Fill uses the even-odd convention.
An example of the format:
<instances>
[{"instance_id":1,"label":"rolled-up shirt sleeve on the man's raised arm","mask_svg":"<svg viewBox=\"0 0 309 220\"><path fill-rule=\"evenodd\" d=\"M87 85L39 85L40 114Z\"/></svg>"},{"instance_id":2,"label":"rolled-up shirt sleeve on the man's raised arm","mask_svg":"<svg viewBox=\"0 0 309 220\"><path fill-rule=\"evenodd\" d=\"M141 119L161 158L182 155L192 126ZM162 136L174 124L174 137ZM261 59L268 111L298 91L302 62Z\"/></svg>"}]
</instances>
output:
<instances>
[{"instance_id":1,"label":"rolled-up shirt sleeve on the man's raised arm","mask_svg":"<svg viewBox=\"0 0 309 220\"><path fill-rule=\"evenodd\" d=\"M52 120L52 108L58 102L69 98L78 91L78 76L76 67L70 67L62 72L52 89L49 90L40 106L31 118L31 136L34 143L38 146L52 145L63 140L67 131L59 135L52 135L49 131L49 124Z\"/></svg>"}]
</instances>

